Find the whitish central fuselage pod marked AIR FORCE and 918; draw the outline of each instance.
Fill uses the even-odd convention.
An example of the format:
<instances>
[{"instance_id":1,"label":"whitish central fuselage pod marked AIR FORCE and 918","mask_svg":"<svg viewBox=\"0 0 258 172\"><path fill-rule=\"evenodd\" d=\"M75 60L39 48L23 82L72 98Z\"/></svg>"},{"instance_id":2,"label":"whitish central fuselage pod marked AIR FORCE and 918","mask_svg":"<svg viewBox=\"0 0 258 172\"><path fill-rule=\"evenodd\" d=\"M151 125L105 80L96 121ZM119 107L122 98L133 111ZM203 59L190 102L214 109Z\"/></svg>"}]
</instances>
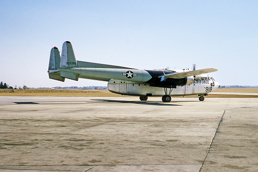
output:
<instances>
[{"instance_id":1,"label":"whitish central fuselage pod marked AIR FORCE and 918","mask_svg":"<svg viewBox=\"0 0 258 172\"><path fill-rule=\"evenodd\" d=\"M107 88L110 92L122 95L135 96L163 96L164 94L171 96L184 95L206 95L218 88L218 82L212 77L202 74L196 76L194 83L191 85L177 86L176 88L153 87L149 83L132 82L124 80L110 80Z\"/></svg>"}]
</instances>

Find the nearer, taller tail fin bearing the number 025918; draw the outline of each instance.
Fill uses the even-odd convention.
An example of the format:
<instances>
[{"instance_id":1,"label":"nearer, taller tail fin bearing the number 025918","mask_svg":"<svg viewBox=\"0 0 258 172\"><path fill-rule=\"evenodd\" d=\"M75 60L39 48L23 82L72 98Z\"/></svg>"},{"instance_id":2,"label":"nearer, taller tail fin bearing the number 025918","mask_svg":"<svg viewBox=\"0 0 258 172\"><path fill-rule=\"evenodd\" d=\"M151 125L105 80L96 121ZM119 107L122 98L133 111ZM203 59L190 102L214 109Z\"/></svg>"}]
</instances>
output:
<instances>
[{"instance_id":1,"label":"nearer, taller tail fin bearing the number 025918","mask_svg":"<svg viewBox=\"0 0 258 172\"><path fill-rule=\"evenodd\" d=\"M70 67L77 67L77 61L71 43L69 41L66 41L63 43L60 68Z\"/></svg>"}]
</instances>

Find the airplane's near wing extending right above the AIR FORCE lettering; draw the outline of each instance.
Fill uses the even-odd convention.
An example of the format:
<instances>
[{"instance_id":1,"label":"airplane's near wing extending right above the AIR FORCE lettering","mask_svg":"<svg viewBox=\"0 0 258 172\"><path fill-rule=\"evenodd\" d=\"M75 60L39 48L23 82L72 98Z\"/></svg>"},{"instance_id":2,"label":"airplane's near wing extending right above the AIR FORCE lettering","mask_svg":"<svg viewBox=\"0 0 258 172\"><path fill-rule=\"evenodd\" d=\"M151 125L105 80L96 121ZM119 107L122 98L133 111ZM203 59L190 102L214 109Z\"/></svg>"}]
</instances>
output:
<instances>
[{"instance_id":1,"label":"airplane's near wing extending right above the AIR FORCE lettering","mask_svg":"<svg viewBox=\"0 0 258 172\"><path fill-rule=\"evenodd\" d=\"M204 68L202 70L196 70L196 71L167 74L167 75L162 76L161 81L163 81L165 78L181 79L181 78L186 78L186 77L191 77L191 76L201 75L201 74L207 74L207 73L216 72L216 71L217 70L215 68Z\"/></svg>"}]
</instances>

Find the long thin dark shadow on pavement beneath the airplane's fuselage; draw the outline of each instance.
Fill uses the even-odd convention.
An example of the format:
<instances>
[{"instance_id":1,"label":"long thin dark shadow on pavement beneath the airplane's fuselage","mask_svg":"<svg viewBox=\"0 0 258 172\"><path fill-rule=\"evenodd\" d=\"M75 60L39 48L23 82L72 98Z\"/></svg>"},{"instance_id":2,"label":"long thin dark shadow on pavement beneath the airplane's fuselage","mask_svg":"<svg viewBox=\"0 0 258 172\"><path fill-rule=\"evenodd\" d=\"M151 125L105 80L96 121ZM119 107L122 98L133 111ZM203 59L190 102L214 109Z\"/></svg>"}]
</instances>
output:
<instances>
[{"instance_id":1,"label":"long thin dark shadow on pavement beneath the airplane's fuselage","mask_svg":"<svg viewBox=\"0 0 258 172\"><path fill-rule=\"evenodd\" d=\"M121 103L121 104L139 104L139 105L154 105L154 106L182 106L182 105L174 105L171 103L163 103L157 101L125 101L125 100L109 100L109 99L91 99L97 100L98 102L109 102L109 103Z\"/></svg>"}]
</instances>

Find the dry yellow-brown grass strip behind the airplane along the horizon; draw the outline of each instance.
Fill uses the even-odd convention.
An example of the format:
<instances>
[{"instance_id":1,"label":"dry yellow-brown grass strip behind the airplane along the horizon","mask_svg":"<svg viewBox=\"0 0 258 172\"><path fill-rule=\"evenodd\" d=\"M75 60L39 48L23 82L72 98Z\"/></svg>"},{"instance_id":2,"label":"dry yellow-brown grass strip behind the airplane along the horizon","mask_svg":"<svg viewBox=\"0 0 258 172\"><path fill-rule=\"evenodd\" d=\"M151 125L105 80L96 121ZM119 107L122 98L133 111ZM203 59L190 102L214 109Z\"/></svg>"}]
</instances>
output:
<instances>
[{"instance_id":1,"label":"dry yellow-brown grass strip behind the airplane along the horizon","mask_svg":"<svg viewBox=\"0 0 258 172\"><path fill-rule=\"evenodd\" d=\"M230 94L230 92L258 93L258 88L218 88L215 92L228 92L229 94L209 94L207 97L258 98L258 95ZM0 96L124 97L125 95L115 94L108 90L17 89L14 92L0 92ZM197 95L186 97L197 97Z\"/></svg>"}]
</instances>

